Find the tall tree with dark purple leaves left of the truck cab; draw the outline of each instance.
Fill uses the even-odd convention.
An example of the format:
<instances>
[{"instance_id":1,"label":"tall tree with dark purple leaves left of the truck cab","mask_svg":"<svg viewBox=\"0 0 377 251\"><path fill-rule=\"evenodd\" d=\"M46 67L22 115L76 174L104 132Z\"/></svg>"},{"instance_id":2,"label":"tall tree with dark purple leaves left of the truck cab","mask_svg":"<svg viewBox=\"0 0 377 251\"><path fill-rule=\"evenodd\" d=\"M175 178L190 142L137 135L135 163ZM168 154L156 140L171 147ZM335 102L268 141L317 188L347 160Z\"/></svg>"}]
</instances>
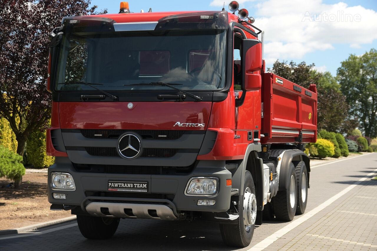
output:
<instances>
[{"instance_id":1,"label":"tall tree with dark purple leaves left of the truck cab","mask_svg":"<svg viewBox=\"0 0 377 251\"><path fill-rule=\"evenodd\" d=\"M89 5L90 0L2 0L0 117L15 133L19 155L29 134L45 127L51 115L46 90L49 32L63 17L94 14L97 6ZM17 187L21 181L15 181Z\"/></svg>"}]
</instances>

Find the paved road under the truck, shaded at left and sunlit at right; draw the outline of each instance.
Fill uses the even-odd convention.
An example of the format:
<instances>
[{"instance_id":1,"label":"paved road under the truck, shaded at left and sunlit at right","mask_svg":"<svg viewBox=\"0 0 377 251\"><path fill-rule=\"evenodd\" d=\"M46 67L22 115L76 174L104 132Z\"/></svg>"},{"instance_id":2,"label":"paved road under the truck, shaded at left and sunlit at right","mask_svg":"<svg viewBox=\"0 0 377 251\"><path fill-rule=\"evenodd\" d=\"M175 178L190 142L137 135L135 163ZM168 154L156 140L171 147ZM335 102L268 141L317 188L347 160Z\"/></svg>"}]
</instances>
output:
<instances>
[{"instance_id":1,"label":"paved road under the truck, shaded at left and sunlit at right","mask_svg":"<svg viewBox=\"0 0 377 251\"><path fill-rule=\"evenodd\" d=\"M264 222L254 231L250 246L240 250L377 250L374 172L375 153L312 168L305 214L288 223ZM113 238L104 241L85 239L75 222L0 236L0 250L10 249L237 250L224 246L212 222L143 219L121 220Z\"/></svg>"}]
</instances>

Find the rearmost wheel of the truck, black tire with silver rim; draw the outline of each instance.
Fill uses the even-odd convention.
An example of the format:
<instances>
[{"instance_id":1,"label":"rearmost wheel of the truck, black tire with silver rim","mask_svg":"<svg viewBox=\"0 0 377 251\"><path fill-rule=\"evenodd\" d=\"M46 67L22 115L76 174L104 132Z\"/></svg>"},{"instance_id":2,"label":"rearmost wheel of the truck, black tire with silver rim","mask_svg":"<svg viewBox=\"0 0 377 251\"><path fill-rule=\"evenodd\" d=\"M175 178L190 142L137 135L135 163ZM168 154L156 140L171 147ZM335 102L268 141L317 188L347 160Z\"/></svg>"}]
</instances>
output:
<instances>
[{"instance_id":1,"label":"rearmost wheel of the truck, black tire with silver rim","mask_svg":"<svg viewBox=\"0 0 377 251\"><path fill-rule=\"evenodd\" d=\"M305 213L308 201L308 171L305 162L301 161L296 166L297 180L297 210L296 215Z\"/></svg>"}]
</instances>

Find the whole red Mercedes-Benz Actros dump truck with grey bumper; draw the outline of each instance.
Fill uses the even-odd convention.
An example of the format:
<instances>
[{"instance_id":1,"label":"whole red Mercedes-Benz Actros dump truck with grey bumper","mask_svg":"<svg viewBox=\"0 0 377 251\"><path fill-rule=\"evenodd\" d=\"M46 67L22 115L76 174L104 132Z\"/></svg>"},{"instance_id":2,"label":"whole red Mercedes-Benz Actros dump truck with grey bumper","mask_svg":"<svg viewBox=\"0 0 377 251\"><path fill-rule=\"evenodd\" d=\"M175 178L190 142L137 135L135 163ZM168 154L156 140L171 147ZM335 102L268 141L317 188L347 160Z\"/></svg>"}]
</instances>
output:
<instances>
[{"instance_id":1,"label":"whole red Mercedes-Benz Actros dump truck with grey bumper","mask_svg":"<svg viewBox=\"0 0 377 251\"><path fill-rule=\"evenodd\" d=\"M121 218L204 219L245 247L262 217L304 213L316 86L265 72L262 31L229 8L123 2L51 32L48 199L84 237L110 238Z\"/></svg>"}]
</instances>

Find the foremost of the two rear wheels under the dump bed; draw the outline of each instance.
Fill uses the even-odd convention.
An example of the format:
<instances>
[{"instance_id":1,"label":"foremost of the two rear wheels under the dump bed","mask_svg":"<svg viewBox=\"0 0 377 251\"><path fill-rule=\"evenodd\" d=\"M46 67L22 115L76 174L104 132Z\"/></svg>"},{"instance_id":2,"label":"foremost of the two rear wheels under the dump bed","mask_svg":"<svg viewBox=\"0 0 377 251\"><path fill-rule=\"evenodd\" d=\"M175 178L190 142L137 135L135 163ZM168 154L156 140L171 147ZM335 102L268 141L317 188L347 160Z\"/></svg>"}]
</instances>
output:
<instances>
[{"instance_id":1,"label":"foremost of the two rear wheels under the dump bed","mask_svg":"<svg viewBox=\"0 0 377 251\"><path fill-rule=\"evenodd\" d=\"M296 214L297 181L293 163L290 164L288 174L288 177L290 177L288 179L288 188L278 191L276 196L272 199L275 217L277 220L281 221L291 221Z\"/></svg>"}]
</instances>

